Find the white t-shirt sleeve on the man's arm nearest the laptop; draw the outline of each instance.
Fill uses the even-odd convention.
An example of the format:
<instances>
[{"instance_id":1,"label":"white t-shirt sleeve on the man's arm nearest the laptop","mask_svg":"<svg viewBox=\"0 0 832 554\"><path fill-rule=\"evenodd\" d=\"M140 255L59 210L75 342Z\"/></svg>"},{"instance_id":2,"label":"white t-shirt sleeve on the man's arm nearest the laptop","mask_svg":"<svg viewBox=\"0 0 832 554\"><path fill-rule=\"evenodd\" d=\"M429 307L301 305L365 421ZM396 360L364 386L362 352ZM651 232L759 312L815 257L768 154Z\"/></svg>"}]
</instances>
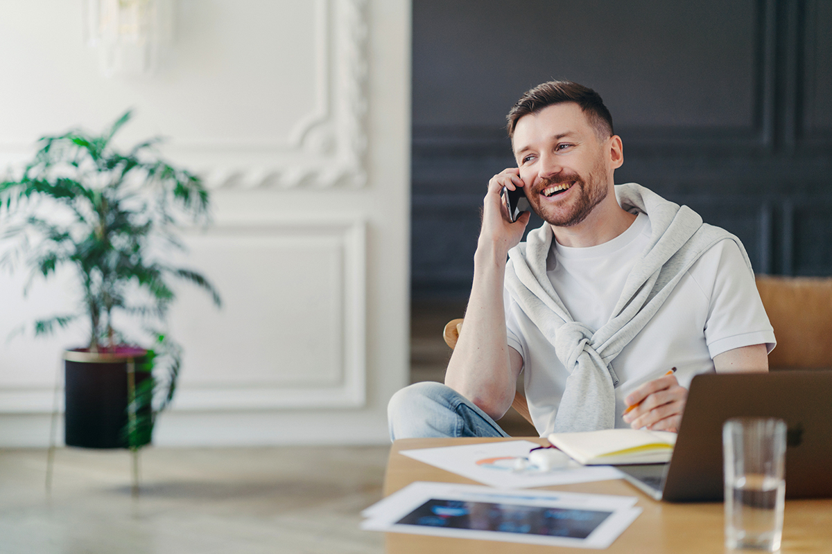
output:
<instances>
[{"instance_id":1,"label":"white t-shirt sleeve on the man's arm nearest the laptop","mask_svg":"<svg viewBox=\"0 0 832 554\"><path fill-rule=\"evenodd\" d=\"M705 326L711 358L742 346L765 344L767 351L774 349L774 330L737 243L716 243L691 267L691 276L701 287L712 283Z\"/></svg>"}]
</instances>

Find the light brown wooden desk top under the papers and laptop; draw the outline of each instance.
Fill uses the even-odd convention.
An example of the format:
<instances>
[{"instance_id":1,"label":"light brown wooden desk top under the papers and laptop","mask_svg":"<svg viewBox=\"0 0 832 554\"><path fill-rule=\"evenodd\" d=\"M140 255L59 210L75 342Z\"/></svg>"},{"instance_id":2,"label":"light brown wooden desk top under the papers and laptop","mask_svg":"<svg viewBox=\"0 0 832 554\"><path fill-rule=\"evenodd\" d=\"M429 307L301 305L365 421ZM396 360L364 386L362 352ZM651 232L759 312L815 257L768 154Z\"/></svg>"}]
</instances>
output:
<instances>
[{"instance_id":1,"label":"light brown wooden desk top under the papers and laptop","mask_svg":"<svg viewBox=\"0 0 832 554\"><path fill-rule=\"evenodd\" d=\"M524 438L545 444L544 439ZM384 494L389 495L414 481L443 483L474 483L455 473L448 473L426 463L418 462L399 453L400 450L427 449L452 444L484 443L494 440L514 439L402 439L390 450L387 475L384 478ZM621 494L638 498L636 506L641 515L612 543L606 552L632 554L702 554L726 552L723 534L722 503L662 503L641 493L621 479L594 483L577 483L547 487L551 490L576 493ZM504 554L505 552L551 553L552 547L524 545L508 542L474 541L470 539L426 537L387 533L389 554ZM592 552L585 548L558 548L557 552ZM727 551L730 552L730 551ZM745 552L745 551L742 551ZM785 503L783 543L781 554L800 552L832 552L832 499L788 500Z\"/></svg>"}]
</instances>

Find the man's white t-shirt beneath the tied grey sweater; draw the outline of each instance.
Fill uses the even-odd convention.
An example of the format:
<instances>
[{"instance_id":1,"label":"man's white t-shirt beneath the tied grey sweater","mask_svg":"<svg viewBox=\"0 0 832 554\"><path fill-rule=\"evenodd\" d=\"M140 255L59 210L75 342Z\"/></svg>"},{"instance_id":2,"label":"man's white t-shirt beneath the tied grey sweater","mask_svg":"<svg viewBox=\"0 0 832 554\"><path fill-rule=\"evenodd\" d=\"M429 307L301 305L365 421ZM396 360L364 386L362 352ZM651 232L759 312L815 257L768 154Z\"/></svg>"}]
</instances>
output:
<instances>
[{"instance_id":1,"label":"man's white t-shirt beneath the tied grey sweater","mask_svg":"<svg viewBox=\"0 0 832 554\"><path fill-rule=\"evenodd\" d=\"M639 213L624 233L589 248L567 248L552 240L547 274L572 319L597 330L607 323L626 277L650 239L650 219ZM554 346L508 295L504 295L508 346L523 359L529 412L541 436L552 433L568 372ZM644 329L612 360L616 427L632 390L676 367L690 387L694 375L714 371L714 356L740 346L775 346L774 331L740 248L730 239L696 260Z\"/></svg>"}]
</instances>

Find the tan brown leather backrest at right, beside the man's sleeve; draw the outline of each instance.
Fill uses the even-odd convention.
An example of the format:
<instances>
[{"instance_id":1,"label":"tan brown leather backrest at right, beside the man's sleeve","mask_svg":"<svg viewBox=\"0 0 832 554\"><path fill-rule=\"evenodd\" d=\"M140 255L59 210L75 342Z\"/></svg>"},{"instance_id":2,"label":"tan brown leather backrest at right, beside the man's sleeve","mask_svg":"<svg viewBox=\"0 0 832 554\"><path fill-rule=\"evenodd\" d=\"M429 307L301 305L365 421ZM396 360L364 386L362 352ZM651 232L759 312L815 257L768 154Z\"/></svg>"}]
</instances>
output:
<instances>
[{"instance_id":1,"label":"tan brown leather backrest at right, beside the man's sleeve","mask_svg":"<svg viewBox=\"0 0 832 554\"><path fill-rule=\"evenodd\" d=\"M832 369L832 277L757 276L775 330L772 370Z\"/></svg>"}]
</instances>

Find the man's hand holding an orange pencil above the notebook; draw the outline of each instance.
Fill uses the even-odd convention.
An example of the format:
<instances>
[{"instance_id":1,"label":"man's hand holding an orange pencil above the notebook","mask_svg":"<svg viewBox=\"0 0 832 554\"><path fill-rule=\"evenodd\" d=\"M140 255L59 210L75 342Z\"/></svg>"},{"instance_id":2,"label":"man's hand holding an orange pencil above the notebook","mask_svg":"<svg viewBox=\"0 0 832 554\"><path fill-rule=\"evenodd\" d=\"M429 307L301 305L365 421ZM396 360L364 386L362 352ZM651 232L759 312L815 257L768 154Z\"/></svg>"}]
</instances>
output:
<instances>
[{"instance_id":1,"label":"man's hand holding an orange pencil above the notebook","mask_svg":"<svg viewBox=\"0 0 832 554\"><path fill-rule=\"evenodd\" d=\"M635 406L624 415L624 421L633 429L646 427L678 433L687 389L679 385L676 375L664 375L633 390L624 401L628 406Z\"/></svg>"}]
</instances>

